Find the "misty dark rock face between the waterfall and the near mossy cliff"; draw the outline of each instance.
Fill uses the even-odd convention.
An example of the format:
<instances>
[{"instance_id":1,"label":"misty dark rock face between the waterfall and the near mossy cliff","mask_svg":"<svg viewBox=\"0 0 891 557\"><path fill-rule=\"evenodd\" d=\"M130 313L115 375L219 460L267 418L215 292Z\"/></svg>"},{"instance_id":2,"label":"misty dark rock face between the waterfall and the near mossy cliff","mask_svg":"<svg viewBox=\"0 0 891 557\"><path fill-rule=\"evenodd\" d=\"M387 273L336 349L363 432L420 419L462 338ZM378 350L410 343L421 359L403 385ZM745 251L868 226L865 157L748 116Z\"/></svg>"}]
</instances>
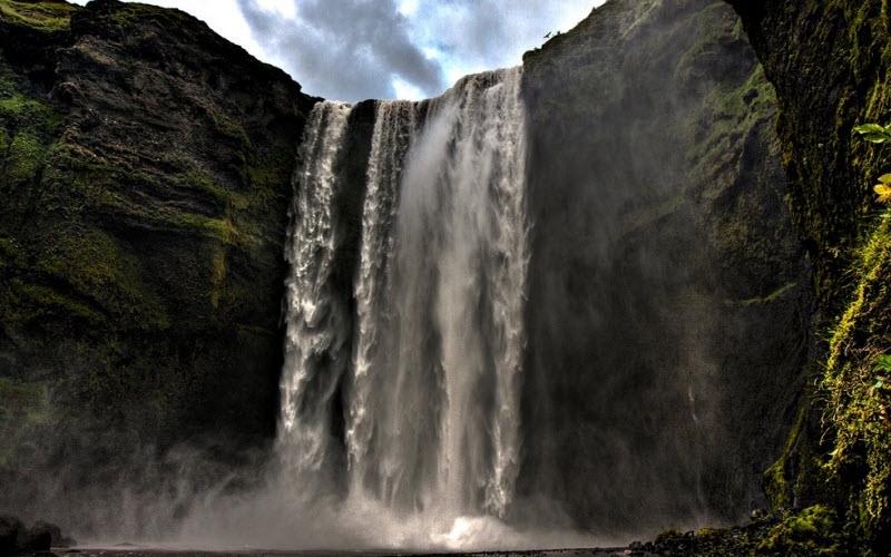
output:
<instances>
[{"instance_id":1,"label":"misty dark rock face between the waterfall and the near mossy cliff","mask_svg":"<svg viewBox=\"0 0 891 557\"><path fill-rule=\"evenodd\" d=\"M608 2L525 67L521 490L607 531L741 519L809 351L773 90L716 1Z\"/></svg>"}]
</instances>

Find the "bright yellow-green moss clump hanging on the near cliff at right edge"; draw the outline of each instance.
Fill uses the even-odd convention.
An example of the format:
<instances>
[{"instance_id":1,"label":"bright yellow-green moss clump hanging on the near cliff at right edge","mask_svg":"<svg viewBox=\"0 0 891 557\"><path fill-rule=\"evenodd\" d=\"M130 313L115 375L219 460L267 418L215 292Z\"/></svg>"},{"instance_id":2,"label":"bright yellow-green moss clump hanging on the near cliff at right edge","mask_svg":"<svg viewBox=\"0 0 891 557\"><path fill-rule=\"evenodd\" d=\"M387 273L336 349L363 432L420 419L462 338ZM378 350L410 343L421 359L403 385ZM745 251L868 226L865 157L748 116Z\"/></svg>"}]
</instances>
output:
<instances>
[{"instance_id":1,"label":"bright yellow-green moss clump hanging on the near cliff at right edge","mask_svg":"<svg viewBox=\"0 0 891 557\"><path fill-rule=\"evenodd\" d=\"M875 358L891 346L891 224L882 221L859 251L856 286L832 331L821 392L824 423L834 437L829 470L850 487L849 514L858 537L874 540L891 525L891 391Z\"/></svg>"}]
</instances>

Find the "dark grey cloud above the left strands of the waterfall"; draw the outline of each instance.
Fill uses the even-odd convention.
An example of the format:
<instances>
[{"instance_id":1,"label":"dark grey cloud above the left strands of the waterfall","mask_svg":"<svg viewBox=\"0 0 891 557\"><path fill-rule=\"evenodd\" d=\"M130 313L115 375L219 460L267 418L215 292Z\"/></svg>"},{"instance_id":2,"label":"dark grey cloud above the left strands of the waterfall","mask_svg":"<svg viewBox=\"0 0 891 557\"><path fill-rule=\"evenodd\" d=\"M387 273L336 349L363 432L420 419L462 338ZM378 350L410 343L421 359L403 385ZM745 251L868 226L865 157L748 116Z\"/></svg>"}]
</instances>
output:
<instances>
[{"instance_id":1,"label":"dark grey cloud above the left strands of the waterfall","mask_svg":"<svg viewBox=\"0 0 891 557\"><path fill-rule=\"evenodd\" d=\"M395 98L395 80L427 96L444 89L441 65L412 41L411 22L394 0L300 0L296 19L257 0L238 0L238 7L254 38L309 94Z\"/></svg>"}]
</instances>

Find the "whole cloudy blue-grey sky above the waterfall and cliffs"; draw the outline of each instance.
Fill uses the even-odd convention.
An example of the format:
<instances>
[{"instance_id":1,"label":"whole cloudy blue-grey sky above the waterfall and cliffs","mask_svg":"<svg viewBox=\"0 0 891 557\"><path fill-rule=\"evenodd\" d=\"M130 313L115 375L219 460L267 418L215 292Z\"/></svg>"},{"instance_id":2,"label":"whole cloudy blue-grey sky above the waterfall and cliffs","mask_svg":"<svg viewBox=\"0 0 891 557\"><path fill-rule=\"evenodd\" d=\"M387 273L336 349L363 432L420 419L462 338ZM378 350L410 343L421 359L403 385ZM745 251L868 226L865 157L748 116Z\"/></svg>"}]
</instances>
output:
<instances>
[{"instance_id":1,"label":"whole cloudy blue-grey sky above the waterfall and cliffs","mask_svg":"<svg viewBox=\"0 0 891 557\"><path fill-rule=\"evenodd\" d=\"M605 0L141 1L204 20L310 95L355 102L435 97L468 74L517 66Z\"/></svg>"}]
</instances>

